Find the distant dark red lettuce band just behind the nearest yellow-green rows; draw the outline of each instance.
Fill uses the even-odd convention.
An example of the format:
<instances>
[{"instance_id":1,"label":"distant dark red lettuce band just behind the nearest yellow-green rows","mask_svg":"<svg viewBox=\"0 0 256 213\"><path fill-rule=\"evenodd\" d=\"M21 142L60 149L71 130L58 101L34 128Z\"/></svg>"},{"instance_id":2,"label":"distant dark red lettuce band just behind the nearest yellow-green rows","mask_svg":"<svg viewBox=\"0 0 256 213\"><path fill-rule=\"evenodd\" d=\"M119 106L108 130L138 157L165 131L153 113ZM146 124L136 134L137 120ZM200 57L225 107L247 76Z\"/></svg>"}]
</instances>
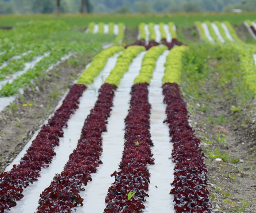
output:
<instances>
[{"instance_id":1,"label":"distant dark red lettuce band just behind the nearest yellow-green rows","mask_svg":"<svg viewBox=\"0 0 256 213\"><path fill-rule=\"evenodd\" d=\"M181 46L182 42L179 42L176 38L172 39L172 42L167 42L165 38L161 39L161 44L166 45L169 50L172 49L175 45ZM153 46L158 46L160 43L156 42L155 40L151 40L146 44L144 39L137 40L136 42L132 43L131 45L125 46L125 48L129 46L144 46L146 50L149 50Z\"/></svg>"}]
</instances>

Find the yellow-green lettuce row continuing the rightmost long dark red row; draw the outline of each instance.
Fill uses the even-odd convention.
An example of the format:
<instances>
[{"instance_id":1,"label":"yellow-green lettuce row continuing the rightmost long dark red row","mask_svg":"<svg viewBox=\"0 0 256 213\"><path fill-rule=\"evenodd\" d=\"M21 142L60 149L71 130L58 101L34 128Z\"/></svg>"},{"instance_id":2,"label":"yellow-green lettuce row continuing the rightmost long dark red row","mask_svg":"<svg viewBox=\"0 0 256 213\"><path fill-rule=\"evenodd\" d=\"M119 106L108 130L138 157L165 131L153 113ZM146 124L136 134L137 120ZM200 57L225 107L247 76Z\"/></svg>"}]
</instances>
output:
<instances>
[{"instance_id":1,"label":"yellow-green lettuce row continuing the rightmost long dark red row","mask_svg":"<svg viewBox=\"0 0 256 213\"><path fill-rule=\"evenodd\" d=\"M163 84L180 83L182 71L183 53L188 49L187 46L175 46L170 50L165 62L165 75L163 76Z\"/></svg>"}]
</instances>

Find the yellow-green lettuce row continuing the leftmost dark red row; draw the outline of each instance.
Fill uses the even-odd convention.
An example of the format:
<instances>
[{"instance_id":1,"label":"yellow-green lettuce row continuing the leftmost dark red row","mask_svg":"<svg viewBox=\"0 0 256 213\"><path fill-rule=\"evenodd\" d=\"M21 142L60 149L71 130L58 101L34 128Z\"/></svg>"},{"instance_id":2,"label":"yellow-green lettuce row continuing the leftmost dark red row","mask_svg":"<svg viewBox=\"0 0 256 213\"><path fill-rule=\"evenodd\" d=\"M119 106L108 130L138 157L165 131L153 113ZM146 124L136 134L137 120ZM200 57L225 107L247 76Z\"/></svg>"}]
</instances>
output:
<instances>
[{"instance_id":1,"label":"yellow-green lettuce row continuing the leftmost dark red row","mask_svg":"<svg viewBox=\"0 0 256 213\"><path fill-rule=\"evenodd\" d=\"M97 56L94 57L94 60L91 62L90 66L83 71L76 84L87 85L93 83L94 78L98 76L106 65L108 58L122 50L124 50L124 47L122 46L113 46L102 50Z\"/></svg>"}]
</instances>

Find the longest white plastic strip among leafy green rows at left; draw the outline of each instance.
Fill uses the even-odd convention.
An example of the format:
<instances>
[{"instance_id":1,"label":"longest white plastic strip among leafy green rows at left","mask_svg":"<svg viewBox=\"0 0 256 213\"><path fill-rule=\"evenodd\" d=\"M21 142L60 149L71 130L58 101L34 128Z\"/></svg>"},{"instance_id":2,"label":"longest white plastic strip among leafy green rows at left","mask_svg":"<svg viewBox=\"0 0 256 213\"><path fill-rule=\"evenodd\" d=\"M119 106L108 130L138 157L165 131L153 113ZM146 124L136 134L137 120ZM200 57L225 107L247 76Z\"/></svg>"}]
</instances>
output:
<instances>
[{"instance_id":1,"label":"longest white plastic strip among leafy green rows at left","mask_svg":"<svg viewBox=\"0 0 256 213\"><path fill-rule=\"evenodd\" d=\"M49 56L50 53L45 53L43 56L36 57L33 61L25 63L25 68L23 70L20 70L12 75L12 78L0 81L0 90L3 87L3 85L8 83L12 83L17 77L21 76L23 73L26 73L29 69L33 68L39 61L41 61L44 57Z\"/></svg>"}]
</instances>

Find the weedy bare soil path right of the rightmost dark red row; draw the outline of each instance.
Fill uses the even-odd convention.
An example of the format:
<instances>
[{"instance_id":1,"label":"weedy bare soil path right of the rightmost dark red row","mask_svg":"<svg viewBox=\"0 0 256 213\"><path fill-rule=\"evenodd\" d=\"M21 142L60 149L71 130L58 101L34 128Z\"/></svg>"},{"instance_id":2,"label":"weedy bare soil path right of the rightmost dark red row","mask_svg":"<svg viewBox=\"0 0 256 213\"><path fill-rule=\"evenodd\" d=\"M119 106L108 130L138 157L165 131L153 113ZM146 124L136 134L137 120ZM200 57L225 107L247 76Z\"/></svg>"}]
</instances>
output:
<instances>
[{"instance_id":1,"label":"weedy bare soil path right of the rightmost dark red row","mask_svg":"<svg viewBox=\"0 0 256 213\"><path fill-rule=\"evenodd\" d=\"M226 94L234 87L219 86L219 76L210 73L211 81L200 86L200 91L212 94L200 100L186 96L189 119L196 136L202 140L207 158L208 187L214 212L256 212L256 103L248 102L240 106L241 111L232 112L231 106L239 106L236 96ZM213 80L215 79L215 80ZM213 81L215 83L213 83ZM184 83L182 87L186 87ZM214 92L213 92L214 91ZM185 94L184 94L185 95ZM212 141L212 142L210 142ZM209 156L209 151L226 152L227 160L217 161ZM225 156L224 156L225 157ZM221 156L220 158L223 158ZM241 204L239 201L251 203Z\"/></svg>"}]
</instances>

